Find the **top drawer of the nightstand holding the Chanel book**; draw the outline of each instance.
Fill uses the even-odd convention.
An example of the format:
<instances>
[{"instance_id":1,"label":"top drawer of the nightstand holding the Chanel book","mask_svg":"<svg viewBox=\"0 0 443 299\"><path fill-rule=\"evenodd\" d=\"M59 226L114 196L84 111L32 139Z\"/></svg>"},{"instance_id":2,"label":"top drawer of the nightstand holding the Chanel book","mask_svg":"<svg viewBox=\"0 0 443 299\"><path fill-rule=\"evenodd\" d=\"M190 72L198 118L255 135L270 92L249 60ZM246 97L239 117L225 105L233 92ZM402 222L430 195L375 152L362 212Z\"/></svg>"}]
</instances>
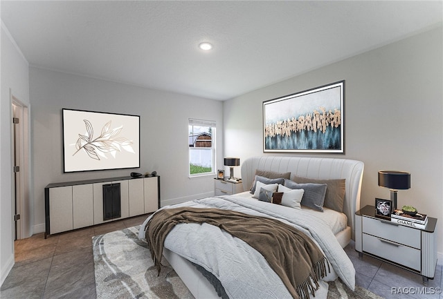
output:
<instances>
[{"instance_id":1,"label":"top drawer of the nightstand holding the Chanel book","mask_svg":"<svg viewBox=\"0 0 443 299\"><path fill-rule=\"evenodd\" d=\"M407 226L390 224L382 220L363 217L363 233L390 240L409 247L421 249L420 230Z\"/></svg>"}]
</instances>

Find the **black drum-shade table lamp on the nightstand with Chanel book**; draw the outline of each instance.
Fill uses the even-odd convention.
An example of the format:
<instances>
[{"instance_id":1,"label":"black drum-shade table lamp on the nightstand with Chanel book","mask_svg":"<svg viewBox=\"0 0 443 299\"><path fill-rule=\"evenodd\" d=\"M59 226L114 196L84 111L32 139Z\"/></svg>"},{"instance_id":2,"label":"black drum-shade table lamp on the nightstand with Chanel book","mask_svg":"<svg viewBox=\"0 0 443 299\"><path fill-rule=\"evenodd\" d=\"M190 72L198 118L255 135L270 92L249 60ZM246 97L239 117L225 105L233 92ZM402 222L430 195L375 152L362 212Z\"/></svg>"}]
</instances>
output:
<instances>
[{"instance_id":1,"label":"black drum-shade table lamp on the nightstand with Chanel book","mask_svg":"<svg viewBox=\"0 0 443 299\"><path fill-rule=\"evenodd\" d=\"M379 171L379 186L390 189L391 211L397 209L397 191L410 188L410 173L406 171Z\"/></svg>"}]
</instances>

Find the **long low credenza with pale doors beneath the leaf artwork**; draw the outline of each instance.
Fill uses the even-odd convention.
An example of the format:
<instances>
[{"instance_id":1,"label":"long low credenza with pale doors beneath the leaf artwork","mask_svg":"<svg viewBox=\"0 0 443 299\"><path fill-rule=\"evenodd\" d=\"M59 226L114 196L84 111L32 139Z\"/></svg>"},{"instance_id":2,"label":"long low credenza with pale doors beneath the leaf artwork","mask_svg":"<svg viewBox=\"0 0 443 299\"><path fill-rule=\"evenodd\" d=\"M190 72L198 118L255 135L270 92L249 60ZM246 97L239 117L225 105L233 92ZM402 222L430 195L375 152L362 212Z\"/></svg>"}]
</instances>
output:
<instances>
[{"instance_id":1,"label":"long low credenza with pale doors beneath the leaf artwork","mask_svg":"<svg viewBox=\"0 0 443 299\"><path fill-rule=\"evenodd\" d=\"M120 185L120 217L104 220L103 185ZM45 234L152 213L160 207L160 177L115 177L48 184L44 189Z\"/></svg>"}]
</instances>

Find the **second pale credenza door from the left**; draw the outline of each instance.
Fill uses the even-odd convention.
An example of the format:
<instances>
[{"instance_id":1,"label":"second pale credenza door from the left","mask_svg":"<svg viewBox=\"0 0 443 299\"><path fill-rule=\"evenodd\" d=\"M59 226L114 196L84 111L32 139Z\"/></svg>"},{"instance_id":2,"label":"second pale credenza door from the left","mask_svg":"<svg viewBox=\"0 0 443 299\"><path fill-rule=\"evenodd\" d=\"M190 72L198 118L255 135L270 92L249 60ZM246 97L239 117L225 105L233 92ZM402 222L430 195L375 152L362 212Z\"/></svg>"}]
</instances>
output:
<instances>
[{"instance_id":1,"label":"second pale credenza door from the left","mask_svg":"<svg viewBox=\"0 0 443 299\"><path fill-rule=\"evenodd\" d=\"M73 229L94 224L92 184L72 186Z\"/></svg>"}]
</instances>

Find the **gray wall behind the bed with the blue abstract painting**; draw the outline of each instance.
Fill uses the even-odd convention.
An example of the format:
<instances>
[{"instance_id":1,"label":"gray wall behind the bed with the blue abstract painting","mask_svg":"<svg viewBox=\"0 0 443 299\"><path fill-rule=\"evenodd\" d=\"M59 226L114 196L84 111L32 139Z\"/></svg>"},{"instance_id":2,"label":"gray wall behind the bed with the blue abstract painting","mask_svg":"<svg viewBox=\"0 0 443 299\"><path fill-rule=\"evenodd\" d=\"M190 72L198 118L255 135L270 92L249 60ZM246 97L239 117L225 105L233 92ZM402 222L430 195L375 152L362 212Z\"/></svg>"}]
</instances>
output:
<instances>
[{"instance_id":1,"label":"gray wall behind the bed with the blue abstract painting","mask_svg":"<svg viewBox=\"0 0 443 299\"><path fill-rule=\"evenodd\" d=\"M389 199L378 171L410 171L411 188L399 191L399 205L440 218L441 232L442 67L440 27L231 99L224 103L225 155L263 155L263 101L345 79L345 154L318 156L365 163L361 206ZM443 238L438 251L441 257Z\"/></svg>"}]
</instances>

